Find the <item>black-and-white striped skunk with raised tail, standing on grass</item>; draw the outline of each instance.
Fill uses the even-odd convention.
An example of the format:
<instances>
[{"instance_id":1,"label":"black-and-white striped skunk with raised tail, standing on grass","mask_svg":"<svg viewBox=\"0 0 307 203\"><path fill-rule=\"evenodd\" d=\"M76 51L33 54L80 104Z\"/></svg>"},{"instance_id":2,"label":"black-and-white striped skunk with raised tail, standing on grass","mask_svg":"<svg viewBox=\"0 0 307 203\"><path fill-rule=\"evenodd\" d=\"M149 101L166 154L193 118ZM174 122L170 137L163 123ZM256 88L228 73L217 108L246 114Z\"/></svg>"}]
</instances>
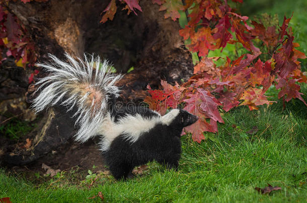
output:
<instances>
[{"instance_id":1,"label":"black-and-white striped skunk with raised tail, standing on grass","mask_svg":"<svg viewBox=\"0 0 307 203\"><path fill-rule=\"evenodd\" d=\"M122 75L108 72L107 61L85 55L85 61L65 54L67 62L50 55L52 63L37 64L50 74L40 79L38 96L32 107L36 112L62 105L73 110L79 129L79 142L100 135L100 150L116 179L132 176L135 166L156 160L177 170L181 156L180 135L197 117L182 109L164 116L145 107L115 108Z\"/></svg>"}]
</instances>

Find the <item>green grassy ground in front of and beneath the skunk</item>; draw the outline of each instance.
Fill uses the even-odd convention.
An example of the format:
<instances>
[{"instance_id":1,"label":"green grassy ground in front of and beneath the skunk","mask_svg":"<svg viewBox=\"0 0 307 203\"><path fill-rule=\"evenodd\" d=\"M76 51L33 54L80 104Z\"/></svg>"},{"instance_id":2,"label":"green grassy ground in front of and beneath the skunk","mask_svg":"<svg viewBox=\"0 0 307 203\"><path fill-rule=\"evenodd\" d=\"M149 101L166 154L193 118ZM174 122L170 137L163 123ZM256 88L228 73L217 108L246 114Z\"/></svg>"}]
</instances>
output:
<instances>
[{"instance_id":1,"label":"green grassy ground in front of and beneath the skunk","mask_svg":"<svg viewBox=\"0 0 307 203\"><path fill-rule=\"evenodd\" d=\"M74 170L27 180L0 170L0 197L13 202L99 202L99 197L89 197L101 191L110 202L305 202L307 108L295 100L281 110L281 102L259 111L237 108L223 115L219 134L206 134L207 141L198 144L183 136L178 172L152 162L142 175L127 181L106 173L71 181ZM254 189L267 183L282 189L269 195Z\"/></svg>"}]
</instances>

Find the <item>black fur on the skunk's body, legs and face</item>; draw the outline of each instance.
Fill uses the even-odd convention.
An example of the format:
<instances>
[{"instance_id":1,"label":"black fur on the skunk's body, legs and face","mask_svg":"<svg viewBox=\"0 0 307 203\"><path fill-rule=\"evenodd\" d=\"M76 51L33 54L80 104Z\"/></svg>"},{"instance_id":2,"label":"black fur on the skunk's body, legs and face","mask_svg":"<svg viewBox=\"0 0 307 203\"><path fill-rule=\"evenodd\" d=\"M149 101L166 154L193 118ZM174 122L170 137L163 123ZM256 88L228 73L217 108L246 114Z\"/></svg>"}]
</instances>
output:
<instances>
[{"instance_id":1,"label":"black fur on the skunk's body, legs and face","mask_svg":"<svg viewBox=\"0 0 307 203\"><path fill-rule=\"evenodd\" d=\"M148 108L134 108L133 113L128 109L122 109L125 113L115 113L115 119L126 114L139 113L150 118L157 116L156 112ZM180 110L178 116L167 126L157 124L149 132L140 135L138 140L131 143L123 137L117 136L111 143L108 151L104 152L107 165L116 179L132 176L135 166L156 160L167 168L177 170L181 157L181 132L184 127L197 121L197 117L185 110Z\"/></svg>"}]
</instances>

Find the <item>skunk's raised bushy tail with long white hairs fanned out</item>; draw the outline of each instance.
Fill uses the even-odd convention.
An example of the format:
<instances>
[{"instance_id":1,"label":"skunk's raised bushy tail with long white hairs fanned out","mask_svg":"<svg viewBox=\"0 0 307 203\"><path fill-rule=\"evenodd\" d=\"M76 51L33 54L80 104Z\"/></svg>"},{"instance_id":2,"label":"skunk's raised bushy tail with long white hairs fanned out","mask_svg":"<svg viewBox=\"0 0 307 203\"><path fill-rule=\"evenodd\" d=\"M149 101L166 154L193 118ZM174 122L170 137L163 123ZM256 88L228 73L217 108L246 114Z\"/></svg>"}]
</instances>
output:
<instances>
[{"instance_id":1,"label":"skunk's raised bushy tail with long white hairs fanned out","mask_svg":"<svg viewBox=\"0 0 307 203\"><path fill-rule=\"evenodd\" d=\"M75 140L85 142L97 135L97 127L103 122L107 110L108 99L119 95L115 83L122 75L115 75L109 71L110 65L105 60L84 55L85 61L74 59L65 54L67 62L61 61L49 54L51 63L36 64L49 72L45 78L39 80L39 95L34 99L32 107L36 112L59 104L67 111L75 107L75 124L79 130Z\"/></svg>"}]
</instances>

